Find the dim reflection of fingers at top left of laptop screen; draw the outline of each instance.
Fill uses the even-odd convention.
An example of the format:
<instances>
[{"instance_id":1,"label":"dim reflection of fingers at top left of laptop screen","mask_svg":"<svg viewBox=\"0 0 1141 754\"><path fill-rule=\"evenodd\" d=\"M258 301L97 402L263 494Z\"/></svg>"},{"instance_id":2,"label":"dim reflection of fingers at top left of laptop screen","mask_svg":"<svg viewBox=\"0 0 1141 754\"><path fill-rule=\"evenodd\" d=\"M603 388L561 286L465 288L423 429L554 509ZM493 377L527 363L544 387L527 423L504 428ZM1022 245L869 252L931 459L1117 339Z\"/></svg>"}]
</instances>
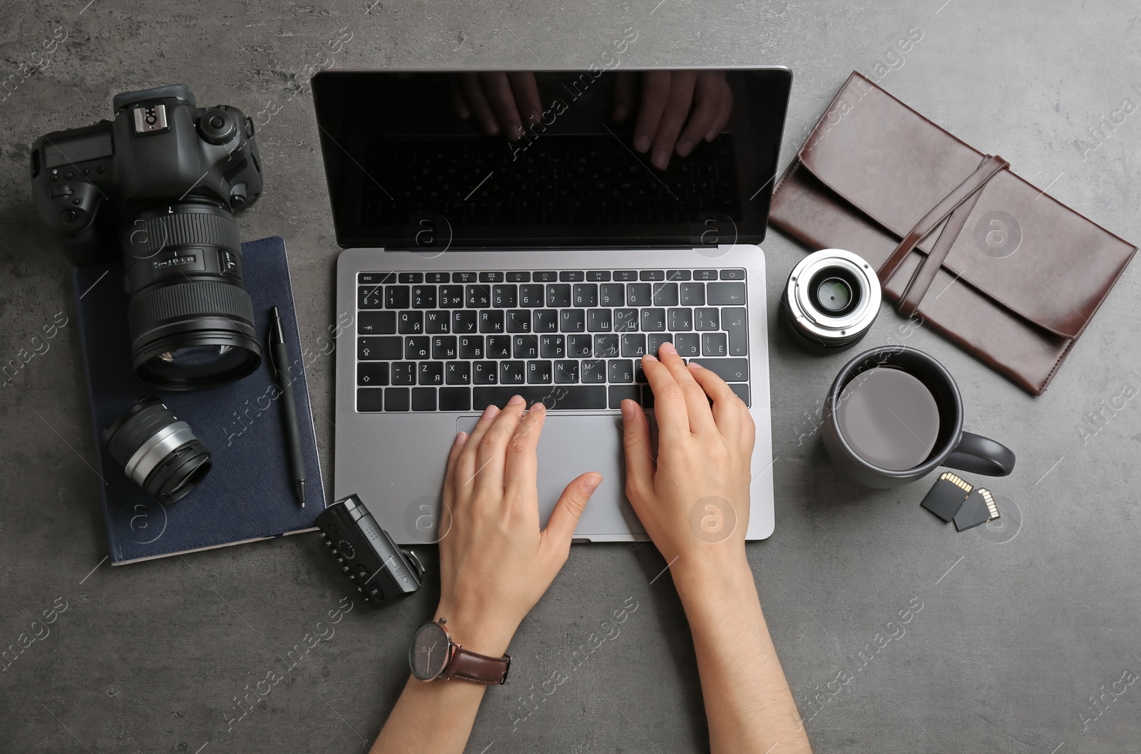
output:
<instances>
[{"instance_id":1,"label":"dim reflection of fingers at top left of laptop screen","mask_svg":"<svg viewBox=\"0 0 1141 754\"><path fill-rule=\"evenodd\" d=\"M475 117L488 136L503 133L518 141L524 123L537 123L543 115L534 73L453 73L448 81L456 115Z\"/></svg>"}]
</instances>

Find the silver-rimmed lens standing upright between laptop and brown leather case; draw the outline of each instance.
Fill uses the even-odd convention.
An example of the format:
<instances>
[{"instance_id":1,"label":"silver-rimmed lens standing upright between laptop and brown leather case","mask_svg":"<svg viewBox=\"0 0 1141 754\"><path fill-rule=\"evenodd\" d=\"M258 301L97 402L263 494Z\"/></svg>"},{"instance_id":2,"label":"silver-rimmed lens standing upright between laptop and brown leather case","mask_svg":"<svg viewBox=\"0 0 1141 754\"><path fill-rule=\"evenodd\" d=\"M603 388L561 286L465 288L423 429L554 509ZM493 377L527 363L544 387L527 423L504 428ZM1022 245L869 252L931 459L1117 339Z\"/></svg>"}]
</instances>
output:
<instances>
[{"instance_id":1,"label":"silver-rimmed lens standing upright between laptop and brown leather case","mask_svg":"<svg viewBox=\"0 0 1141 754\"><path fill-rule=\"evenodd\" d=\"M825 249L802 259L788 275L782 319L809 350L841 351L872 327L881 295L880 279L861 257Z\"/></svg>"}]
</instances>

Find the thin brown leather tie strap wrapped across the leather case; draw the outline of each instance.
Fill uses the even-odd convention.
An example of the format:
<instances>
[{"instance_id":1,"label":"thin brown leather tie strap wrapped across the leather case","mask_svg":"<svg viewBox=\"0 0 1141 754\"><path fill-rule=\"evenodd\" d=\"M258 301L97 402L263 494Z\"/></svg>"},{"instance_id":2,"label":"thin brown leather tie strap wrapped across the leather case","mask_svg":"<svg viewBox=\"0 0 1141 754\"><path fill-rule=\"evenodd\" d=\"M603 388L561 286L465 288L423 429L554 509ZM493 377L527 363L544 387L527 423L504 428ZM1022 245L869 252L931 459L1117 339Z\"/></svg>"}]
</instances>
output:
<instances>
[{"instance_id":1,"label":"thin brown leather tie strap wrapped across the leather case","mask_svg":"<svg viewBox=\"0 0 1141 754\"><path fill-rule=\"evenodd\" d=\"M934 230L948 214L950 216L934 248L931 249L931 253L926 256L926 259L912 274L912 279L908 281L903 295L899 297L900 314L905 316L915 314L920 301L931 286L931 281L934 279L936 274L942 266L942 261L947 258L947 253L950 252L950 246L955 243L955 238L958 237L963 225L966 224L966 218L974 208L974 203L978 202L979 194L982 193L982 187L987 185L987 181L995 173L1009 167L1010 163L997 155L988 154L984 157L978 169L949 194L944 196L930 212L924 214L923 219L915 224L915 227L904 236L904 240L899 242L899 245L891 252L891 256L880 266L877 270L880 282L885 284L896 269L899 268L904 259L906 259L907 254L915 249L915 244Z\"/></svg>"}]
</instances>

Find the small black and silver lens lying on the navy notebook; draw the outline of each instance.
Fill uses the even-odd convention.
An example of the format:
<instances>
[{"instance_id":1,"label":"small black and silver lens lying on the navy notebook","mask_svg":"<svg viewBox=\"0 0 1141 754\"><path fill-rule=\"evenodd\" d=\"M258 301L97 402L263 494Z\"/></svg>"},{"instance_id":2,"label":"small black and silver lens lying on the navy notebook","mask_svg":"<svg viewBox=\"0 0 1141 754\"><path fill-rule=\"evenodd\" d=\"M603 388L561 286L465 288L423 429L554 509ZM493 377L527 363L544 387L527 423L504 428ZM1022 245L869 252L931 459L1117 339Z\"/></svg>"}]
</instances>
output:
<instances>
[{"instance_id":1,"label":"small black and silver lens lying on the navy notebook","mask_svg":"<svg viewBox=\"0 0 1141 754\"><path fill-rule=\"evenodd\" d=\"M115 420L103 441L123 472L160 503L186 496L210 472L210 451L154 397Z\"/></svg>"}]
</instances>

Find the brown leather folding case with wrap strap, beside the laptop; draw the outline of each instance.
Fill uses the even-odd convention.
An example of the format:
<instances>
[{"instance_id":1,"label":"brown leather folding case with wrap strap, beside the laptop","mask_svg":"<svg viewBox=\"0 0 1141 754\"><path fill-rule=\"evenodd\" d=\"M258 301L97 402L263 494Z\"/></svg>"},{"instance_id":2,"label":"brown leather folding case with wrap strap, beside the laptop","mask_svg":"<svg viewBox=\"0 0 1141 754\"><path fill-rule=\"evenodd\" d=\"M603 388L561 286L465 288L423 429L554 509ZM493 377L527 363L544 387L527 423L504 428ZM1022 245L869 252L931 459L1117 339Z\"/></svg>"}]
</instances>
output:
<instances>
[{"instance_id":1,"label":"brown leather folding case with wrap strap, beside the laptop","mask_svg":"<svg viewBox=\"0 0 1141 754\"><path fill-rule=\"evenodd\" d=\"M769 219L864 257L901 314L1042 395L1136 246L1008 168L852 72Z\"/></svg>"}]
</instances>

